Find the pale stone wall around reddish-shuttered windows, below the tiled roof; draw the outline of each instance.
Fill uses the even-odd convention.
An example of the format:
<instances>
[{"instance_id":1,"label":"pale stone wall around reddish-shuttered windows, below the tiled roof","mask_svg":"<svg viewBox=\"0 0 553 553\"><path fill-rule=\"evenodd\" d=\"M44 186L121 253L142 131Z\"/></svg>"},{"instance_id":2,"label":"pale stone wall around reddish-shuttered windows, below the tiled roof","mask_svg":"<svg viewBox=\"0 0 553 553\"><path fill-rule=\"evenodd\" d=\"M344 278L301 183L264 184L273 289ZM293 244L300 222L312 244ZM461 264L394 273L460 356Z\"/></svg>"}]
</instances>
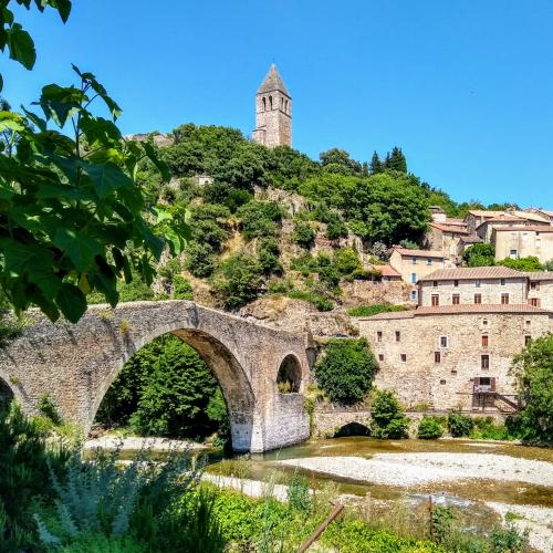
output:
<instances>
[{"instance_id":1,"label":"pale stone wall around reddish-shuttered windows, below the tiled roof","mask_svg":"<svg viewBox=\"0 0 553 553\"><path fill-rule=\"evenodd\" d=\"M452 305L453 294L459 294L460 304L473 304L474 294L481 294L482 303L500 304L501 294L509 294L509 303L528 303L526 302L526 284L528 279L521 276L518 279L503 279L504 284L501 284L501 279L476 280L446 280L437 281L437 286L432 281L424 281L419 283L419 305L430 306L432 304L432 295L439 296L439 305ZM456 286L456 282L458 285Z\"/></svg>"}]
</instances>

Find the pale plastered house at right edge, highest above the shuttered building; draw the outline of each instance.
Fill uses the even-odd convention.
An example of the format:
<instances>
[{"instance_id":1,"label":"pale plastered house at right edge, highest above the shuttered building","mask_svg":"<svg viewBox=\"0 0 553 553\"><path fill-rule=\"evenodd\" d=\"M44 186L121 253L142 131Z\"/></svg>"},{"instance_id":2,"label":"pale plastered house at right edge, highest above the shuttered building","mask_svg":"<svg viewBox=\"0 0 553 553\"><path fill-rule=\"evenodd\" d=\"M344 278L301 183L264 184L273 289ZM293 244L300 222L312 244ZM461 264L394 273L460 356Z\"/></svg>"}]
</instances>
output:
<instances>
[{"instance_id":1,"label":"pale plastered house at right edge, highest above the shuttered building","mask_svg":"<svg viewBox=\"0 0 553 553\"><path fill-rule=\"evenodd\" d=\"M490 242L495 260L536 257L541 263L553 260L553 226L546 223L493 227Z\"/></svg>"}]
</instances>

